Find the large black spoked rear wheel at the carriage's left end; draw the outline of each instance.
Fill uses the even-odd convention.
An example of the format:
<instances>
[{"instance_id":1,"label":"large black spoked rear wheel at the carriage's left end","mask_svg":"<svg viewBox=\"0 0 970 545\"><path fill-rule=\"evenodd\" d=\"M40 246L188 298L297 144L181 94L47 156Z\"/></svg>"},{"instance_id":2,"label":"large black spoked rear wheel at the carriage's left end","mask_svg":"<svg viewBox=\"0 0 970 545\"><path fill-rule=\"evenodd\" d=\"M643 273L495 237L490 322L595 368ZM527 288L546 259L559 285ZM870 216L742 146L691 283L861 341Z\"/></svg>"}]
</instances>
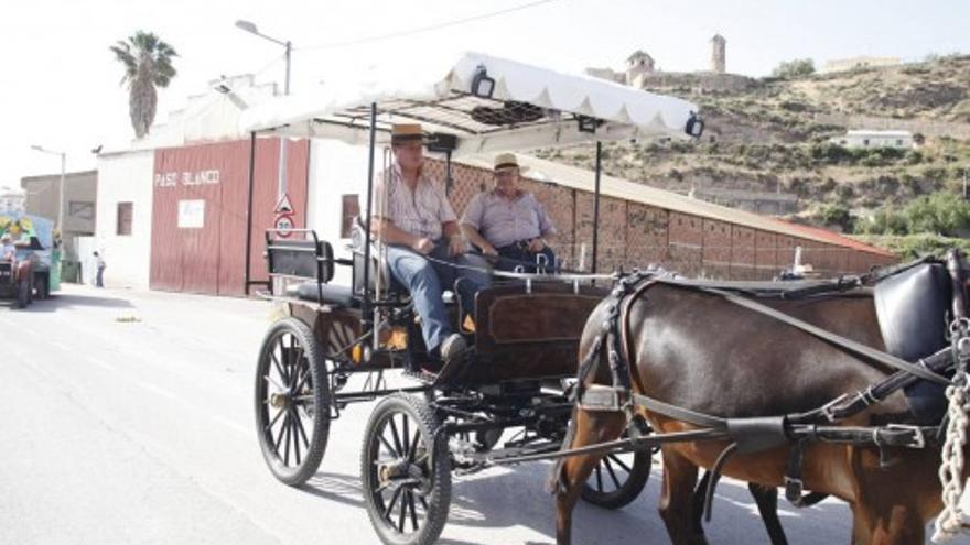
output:
<instances>
[{"instance_id":1,"label":"large black spoked rear wheel at the carriage's left end","mask_svg":"<svg viewBox=\"0 0 970 545\"><path fill-rule=\"evenodd\" d=\"M270 471L291 487L313 477L330 432L330 382L306 324L283 318L270 328L256 366L256 430Z\"/></svg>"}]
</instances>

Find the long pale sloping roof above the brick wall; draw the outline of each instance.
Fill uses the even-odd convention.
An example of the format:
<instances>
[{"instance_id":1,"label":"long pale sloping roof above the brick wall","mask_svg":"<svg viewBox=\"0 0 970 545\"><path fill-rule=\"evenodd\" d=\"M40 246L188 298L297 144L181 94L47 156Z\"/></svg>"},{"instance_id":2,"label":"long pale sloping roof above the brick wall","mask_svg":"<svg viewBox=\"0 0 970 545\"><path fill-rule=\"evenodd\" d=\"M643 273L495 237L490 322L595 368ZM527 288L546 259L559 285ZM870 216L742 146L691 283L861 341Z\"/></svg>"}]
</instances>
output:
<instances>
[{"instance_id":1,"label":"long pale sloping roof above the brick wall","mask_svg":"<svg viewBox=\"0 0 970 545\"><path fill-rule=\"evenodd\" d=\"M495 155L496 154L494 153L465 155L455 160L455 162L478 168L492 170ZM540 183L554 183L572 189L590 193L593 193L594 190L595 174L592 171L554 163L552 161L546 161L530 155L516 154L516 156L518 157L520 165L528 167L528 171L522 175L526 178ZM716 219L719 221L726 221L742 227L751 227L788 237L798 237L829 244L838 244L877 255L894 257L892 252L864 244L832 231L800 226L777 218L761 216L745 210L739 210L736 208L729 208L726 206L698 200L686 195L658 189L648 185L636 184L627 179L607 176L605 174L600 177L600 192L602 195L608 197L632 200L634 203L640 203L671 211L691 214L693 216Z\"/></svg>"}]
</instances>

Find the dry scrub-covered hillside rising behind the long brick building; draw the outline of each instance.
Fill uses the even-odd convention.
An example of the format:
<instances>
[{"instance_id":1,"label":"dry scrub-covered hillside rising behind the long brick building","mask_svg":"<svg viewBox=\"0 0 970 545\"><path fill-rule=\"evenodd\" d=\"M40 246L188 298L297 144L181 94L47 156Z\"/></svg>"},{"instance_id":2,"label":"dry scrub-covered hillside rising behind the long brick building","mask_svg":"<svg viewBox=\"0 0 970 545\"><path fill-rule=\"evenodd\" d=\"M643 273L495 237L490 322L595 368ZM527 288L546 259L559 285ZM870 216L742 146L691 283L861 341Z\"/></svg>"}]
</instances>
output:
<instances>
[{"instance_id":1,"label":"dry scrub-covered hillside rising behind the long brick building","mask_svg":"<svg viewBox=\"0 0 970 545\"><path fill-rule=\"evenodd\" d=\"M707 120L698 142L613 143L608 174L845 231L922 196L960 194L970 170L970 55L887 68L754 80L746 90L656 88ZM849 129L908 130L914 150L849 150ZM538 155L592 167L589 146ZM967 221L970 221L968 215ZM952 235L952 233L951 233Z\"/></svg>"}]
</instances>

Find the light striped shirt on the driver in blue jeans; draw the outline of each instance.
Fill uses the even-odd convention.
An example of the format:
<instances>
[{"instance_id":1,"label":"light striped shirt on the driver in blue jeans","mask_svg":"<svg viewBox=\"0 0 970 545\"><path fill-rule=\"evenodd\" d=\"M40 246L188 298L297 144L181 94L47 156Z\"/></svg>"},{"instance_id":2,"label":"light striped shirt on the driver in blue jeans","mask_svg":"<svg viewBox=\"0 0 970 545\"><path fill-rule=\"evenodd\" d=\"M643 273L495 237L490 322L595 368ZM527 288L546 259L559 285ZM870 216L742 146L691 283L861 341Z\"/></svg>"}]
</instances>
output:
<instances>
[{"instance_id":1,"label":"light striped shirt on the driver in blue jeans","mask_svg":"<svg viewBox=\"0 0 970 545\"><path fill-rule=\"evenodd\" d=\"M380 176L375 187L374 216L390 220L398 229L431 240L441 238L442 224L457 219L448 197L435 182L423 173L419 174L418 184L411 190L397 164L391 170L387 185L385 207L384 178Z\"/></svg>"}]
</instances>

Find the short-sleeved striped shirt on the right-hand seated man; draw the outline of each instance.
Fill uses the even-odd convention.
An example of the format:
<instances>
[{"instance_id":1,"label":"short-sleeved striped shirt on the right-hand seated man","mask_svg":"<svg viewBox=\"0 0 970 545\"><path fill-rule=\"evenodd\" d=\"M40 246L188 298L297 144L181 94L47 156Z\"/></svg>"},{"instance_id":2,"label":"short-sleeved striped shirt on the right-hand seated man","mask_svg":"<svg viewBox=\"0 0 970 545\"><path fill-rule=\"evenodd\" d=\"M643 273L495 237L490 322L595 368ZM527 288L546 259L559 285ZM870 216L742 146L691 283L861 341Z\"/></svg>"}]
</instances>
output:
<instances>
[{"instance_id":1,"label":"short-sleeved striped shirt on the right-hand seated man","mask_svg":"<svg viewBox=\"0 0 970 545\"><path fill-rule=\"evenodd\" d=\"M556 235L556 227L546 208L531 193L520 192L516 198L507 198L495 190L475 195L462 224L468 224L495 248Z\"/></svg>"}]
</instances>

